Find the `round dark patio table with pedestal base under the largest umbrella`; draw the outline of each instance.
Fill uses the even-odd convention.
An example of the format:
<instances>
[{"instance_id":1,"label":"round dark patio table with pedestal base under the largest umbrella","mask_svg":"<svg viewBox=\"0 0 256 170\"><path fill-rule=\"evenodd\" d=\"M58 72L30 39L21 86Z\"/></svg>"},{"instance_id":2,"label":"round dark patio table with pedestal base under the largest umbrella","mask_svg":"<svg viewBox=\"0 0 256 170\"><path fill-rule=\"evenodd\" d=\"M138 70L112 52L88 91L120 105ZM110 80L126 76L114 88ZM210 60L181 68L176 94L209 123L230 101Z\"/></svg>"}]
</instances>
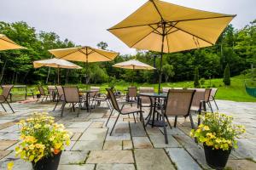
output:
<instances>
[{"instance_id":1,"label":"round dark patio table with pedestal base under the largest umbrella","mask_svg":"<svg viewBox=\"0 0 256 170\"><path fill-rule=\"evenodd\" d=\"M148 114L148 122L146 123L146 126L150 124L152 127L163 127L166 126L166 124L163 124L162 121L160 121L160 115L159 112L156 111L156 108L159 106L157 104L157 100L159 99L167 99L167 94L156 94L156 93L140 93L138 96L143 96L143 97L149 97L151 107L150 111ZM155 113L157 114L155 118ZM150 119L152 117L152 120Z\"/></svg>"}]
</instances>

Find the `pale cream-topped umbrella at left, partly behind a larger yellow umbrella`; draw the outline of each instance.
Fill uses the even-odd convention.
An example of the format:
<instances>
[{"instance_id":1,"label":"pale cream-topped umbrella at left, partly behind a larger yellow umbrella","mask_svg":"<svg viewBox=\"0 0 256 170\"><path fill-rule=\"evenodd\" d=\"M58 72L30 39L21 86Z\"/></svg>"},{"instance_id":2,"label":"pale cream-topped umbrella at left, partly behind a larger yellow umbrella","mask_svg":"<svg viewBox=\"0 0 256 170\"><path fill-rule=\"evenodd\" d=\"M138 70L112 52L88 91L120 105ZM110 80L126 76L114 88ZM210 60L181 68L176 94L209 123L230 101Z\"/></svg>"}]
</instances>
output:
<instances>
[{"instance_id":1,"label":"pale cream-topped umbrella at left, partly behind a larger yellow umbrella","mask_svg":"<svg viewBox=\"0 0 256 170\"><path fill-rule=\"evenodd\" d=\"M34 68L48 66L58 69L58 84L60 84L60 68L65 69L81 69L79 65L75 65L65 59L44 59L33 62Z\"/></svg>"}]
</instances>

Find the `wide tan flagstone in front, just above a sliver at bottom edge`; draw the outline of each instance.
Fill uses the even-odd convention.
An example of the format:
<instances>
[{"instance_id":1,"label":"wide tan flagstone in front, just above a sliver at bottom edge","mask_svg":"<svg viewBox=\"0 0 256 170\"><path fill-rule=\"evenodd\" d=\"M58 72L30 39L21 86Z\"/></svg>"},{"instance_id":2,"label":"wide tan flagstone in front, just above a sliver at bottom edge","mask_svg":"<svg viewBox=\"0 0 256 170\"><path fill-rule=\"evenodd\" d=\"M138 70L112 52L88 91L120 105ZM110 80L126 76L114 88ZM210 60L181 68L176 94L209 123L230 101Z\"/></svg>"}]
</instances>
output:
<instances>
[{"instance_id":1,"label":"wide tan flagstone in front, just above a sliver at bottom edge","mask_svg":"<svg viewBox=\"0 0 256 170\"><path fill-rule=\"evenodd\" d=\"M86 163L134 163L131 150L92 150Z\"/></svg>"}]
</instances>

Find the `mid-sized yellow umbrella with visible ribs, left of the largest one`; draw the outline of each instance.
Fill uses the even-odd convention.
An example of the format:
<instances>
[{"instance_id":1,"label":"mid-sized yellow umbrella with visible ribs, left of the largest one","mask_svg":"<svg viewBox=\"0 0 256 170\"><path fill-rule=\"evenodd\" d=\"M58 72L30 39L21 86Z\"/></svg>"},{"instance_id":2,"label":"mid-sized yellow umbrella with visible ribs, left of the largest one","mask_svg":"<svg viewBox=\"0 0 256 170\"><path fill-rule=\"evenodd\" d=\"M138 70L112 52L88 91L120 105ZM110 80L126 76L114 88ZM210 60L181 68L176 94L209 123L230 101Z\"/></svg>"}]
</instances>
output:
<instances>
[{"instance_id":1,"label":"mid-sized yellow umbrella with visible ribs, left of the largest one","mask_svg":"<svg viewBox=\"0 0 256 170\"><path fill-rule=\"evenodd\" d=\"M86 62L86 73L88 71L88 63L110 61L119 55L119 53L90 48L88 46L78 48L52 49L49 50L49 53L55 55L55 57L58 59Z\"/></svg>"}]
</instances>

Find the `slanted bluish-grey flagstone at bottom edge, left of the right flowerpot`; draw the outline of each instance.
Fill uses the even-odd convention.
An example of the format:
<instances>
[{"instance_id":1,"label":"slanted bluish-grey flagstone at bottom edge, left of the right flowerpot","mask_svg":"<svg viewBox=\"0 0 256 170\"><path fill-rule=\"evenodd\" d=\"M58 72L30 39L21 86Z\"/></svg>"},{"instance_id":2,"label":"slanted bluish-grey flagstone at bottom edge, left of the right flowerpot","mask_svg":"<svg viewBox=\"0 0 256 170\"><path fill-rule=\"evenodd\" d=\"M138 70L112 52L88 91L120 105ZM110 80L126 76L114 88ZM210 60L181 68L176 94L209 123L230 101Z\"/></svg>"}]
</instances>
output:
<instances>
[{"instance_id":1,"label":"slanted bluish-grey flagstone at bottom edge, left of the right flowerpot","mask_svg":"<svg viewBox=\"0 0 256 170\"><path fill-rule=\"evenodd\" d=\"M201 170L189 153L183 148L166 148L168 156L177 167L177 170Z\"/></svg>"}]
</instances>

